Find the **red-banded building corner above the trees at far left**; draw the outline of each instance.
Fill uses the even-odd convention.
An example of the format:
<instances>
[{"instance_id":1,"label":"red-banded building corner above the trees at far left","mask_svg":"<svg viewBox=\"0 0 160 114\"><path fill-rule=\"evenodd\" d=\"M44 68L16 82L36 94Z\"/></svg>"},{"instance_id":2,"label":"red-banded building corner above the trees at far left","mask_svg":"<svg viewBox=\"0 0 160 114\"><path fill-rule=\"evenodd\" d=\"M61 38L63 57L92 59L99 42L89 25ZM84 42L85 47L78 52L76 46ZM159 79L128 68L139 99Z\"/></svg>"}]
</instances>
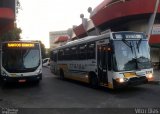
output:
<instances>
[{"instance_id":1,"label":"red-banded building corner above the trees at far left","mask_svg":"<svg viewBox=\"0 0 160 114\"><path fill-rule=\"evenodd\" d=\"M0 35L14 28L15 0L0 0Z\"/></svg>"}]
</instances>

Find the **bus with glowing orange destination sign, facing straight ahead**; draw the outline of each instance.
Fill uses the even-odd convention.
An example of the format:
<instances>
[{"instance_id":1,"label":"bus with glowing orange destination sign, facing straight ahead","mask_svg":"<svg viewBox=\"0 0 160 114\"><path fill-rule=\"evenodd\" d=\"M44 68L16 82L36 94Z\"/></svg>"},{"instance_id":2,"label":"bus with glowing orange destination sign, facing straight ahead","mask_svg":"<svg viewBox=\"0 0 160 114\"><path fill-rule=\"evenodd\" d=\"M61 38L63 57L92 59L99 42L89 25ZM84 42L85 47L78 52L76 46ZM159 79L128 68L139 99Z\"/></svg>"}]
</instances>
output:
<instances>
[{"instance_id":1,"label":"bus with glowing orange destination sign, facing straight ahead","mask_svg":"<svg viewBox=\"0 0 160 114\"><path fill-rule=\"evenodd\" d=\"M39 82L42 57L39 42L8 41L1 45L1 78L5 82Z\"/></svg>"}]
</instances>

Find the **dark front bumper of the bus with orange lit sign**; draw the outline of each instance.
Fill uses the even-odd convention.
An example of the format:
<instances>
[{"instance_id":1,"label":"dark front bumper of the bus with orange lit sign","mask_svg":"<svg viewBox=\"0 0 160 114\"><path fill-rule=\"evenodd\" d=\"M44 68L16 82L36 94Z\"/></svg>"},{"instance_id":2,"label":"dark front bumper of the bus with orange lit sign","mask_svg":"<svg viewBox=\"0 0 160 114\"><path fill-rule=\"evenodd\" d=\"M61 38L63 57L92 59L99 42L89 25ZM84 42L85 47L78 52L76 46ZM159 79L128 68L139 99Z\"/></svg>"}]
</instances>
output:
<instances>
[{"instance_id":1,"label":"dark front bumper of the bus with orange lit sign","mask_svg":"<svg viewBox=\"0 0 160 114\"><path fill-rule=\"evenodd\" d=\"M35 76L25 76L25 77L2 76L2 80L4 82L31 82L31 81L39 81L39 80L42 80L42 74L35 75Z\"/></svg>"}]
</instances>

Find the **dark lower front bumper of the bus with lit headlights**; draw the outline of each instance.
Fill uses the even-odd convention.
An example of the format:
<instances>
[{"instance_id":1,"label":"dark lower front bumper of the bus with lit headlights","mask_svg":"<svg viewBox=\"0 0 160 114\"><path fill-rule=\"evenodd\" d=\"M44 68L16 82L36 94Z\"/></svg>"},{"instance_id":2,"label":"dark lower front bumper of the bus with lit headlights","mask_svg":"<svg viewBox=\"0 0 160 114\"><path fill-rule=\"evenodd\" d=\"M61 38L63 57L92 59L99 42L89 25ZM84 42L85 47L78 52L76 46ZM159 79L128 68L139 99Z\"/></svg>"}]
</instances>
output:
<instances>
[{"instance_id":1,"label":"dark lower front bumper of the bus with lit headlights","mask_svg":"<svg viewBox=\"0 0 160 114\"><path fill-rule=\"evenodd\" d=\"M123 83L117 82L116 80L113 79L114 88L132 87L132 86L141 85L145 83L148 83L148 79L145 76L130 78L128 81Z\"/></svg>"}]
</instances>

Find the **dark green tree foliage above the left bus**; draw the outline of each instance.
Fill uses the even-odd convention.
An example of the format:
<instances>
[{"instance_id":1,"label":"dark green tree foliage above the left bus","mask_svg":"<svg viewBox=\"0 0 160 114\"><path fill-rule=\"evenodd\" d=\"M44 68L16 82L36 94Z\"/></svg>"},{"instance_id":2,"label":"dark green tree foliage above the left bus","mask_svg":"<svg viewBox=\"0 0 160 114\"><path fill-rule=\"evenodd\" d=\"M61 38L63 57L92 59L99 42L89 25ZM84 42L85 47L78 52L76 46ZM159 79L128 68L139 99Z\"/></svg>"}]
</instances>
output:
<instances>
[{"instance_id":1,"label":"dark green tree foliage above the left bus","mask_svg":"<svg viewBox=\"0 0 160 114\"><path fill-rule=\"evenodd\" d=\"M14 27L14 29L1 34L0 41L19 41L21 32L20 28Z\"/></svg>"}]
</instances>

